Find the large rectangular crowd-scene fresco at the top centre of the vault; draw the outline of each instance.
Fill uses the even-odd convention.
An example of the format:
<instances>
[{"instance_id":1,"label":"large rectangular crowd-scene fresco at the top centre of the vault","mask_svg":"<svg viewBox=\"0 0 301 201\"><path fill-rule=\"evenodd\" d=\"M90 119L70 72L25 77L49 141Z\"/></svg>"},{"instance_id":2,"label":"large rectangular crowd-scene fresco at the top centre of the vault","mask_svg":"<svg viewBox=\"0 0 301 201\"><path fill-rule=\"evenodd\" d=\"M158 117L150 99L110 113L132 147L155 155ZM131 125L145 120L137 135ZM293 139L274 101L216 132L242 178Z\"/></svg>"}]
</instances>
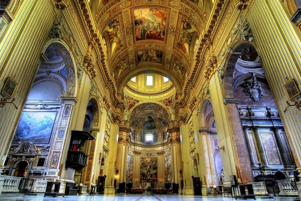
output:
<instances>
[{"instance_id":1,"label":"large rectangular crowd-scene fresco at the top centre of the vault","mask_svg":"<svg viewBox=\"0 0 301 201\"><path fill-rule=\"evenodd\" d=\"M167 10L144 8L134 10L136 40L165 39Z\"/></svg>"}]
</instances>

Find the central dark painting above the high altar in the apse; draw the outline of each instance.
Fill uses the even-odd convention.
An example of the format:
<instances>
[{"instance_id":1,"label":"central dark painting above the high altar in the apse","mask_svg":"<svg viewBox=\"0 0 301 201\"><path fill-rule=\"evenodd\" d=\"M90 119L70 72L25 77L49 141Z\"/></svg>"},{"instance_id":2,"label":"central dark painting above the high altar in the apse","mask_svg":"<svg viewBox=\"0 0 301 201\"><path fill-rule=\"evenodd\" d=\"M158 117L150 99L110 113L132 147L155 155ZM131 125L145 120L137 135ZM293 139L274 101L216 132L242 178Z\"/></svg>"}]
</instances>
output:
<instances>
[{"instance_id":1,"label":"central dark painting above the high altar in the apse","mask_svg":"<svg viewBox=\"0 0 301 201\"><path fill-rule=\"evenodd\" d=\"M140 180L157 179L157 158L141 158Z\"/></svg>"}]
</instances>

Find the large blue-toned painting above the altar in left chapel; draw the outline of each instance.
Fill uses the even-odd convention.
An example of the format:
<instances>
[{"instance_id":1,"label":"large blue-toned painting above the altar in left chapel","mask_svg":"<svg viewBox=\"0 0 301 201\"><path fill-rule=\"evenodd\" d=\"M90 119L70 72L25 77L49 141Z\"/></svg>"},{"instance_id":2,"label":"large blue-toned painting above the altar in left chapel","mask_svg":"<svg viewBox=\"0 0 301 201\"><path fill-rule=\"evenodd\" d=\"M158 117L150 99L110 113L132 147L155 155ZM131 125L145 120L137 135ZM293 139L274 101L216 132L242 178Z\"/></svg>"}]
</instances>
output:
<instances>
[{"instance_id":1,"label":"large blue-toned painting above the altar in left chapel","mask_svg":"<svg viewBox=\"0 0 301 201\"><path fill-rule=\"evenodd\" d=\"M24 111L13 143L30 141L34 144L49 144L57 112Z\"/></svg>"}]
</instances>

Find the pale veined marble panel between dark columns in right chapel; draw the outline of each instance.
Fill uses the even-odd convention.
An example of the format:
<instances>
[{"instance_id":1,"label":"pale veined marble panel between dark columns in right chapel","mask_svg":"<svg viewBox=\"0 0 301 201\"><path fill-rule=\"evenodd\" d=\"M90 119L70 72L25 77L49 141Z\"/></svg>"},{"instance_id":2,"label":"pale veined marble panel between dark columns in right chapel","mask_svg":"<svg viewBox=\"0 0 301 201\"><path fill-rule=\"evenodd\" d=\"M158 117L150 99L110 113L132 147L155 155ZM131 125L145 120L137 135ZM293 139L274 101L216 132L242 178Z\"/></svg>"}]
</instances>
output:
<instances>
[{"instance_id":1,"label":"pale veined marble panel between dark columns in right chapel","mask_svg":"<svg viewBox=\"0 0 301 201\"><path fill-rule=\"evenodd\" d=\"M269 165L280 165L280 158L275 144L273 133L260 133L264 152Z\"/></svg>"}]
</instances>

